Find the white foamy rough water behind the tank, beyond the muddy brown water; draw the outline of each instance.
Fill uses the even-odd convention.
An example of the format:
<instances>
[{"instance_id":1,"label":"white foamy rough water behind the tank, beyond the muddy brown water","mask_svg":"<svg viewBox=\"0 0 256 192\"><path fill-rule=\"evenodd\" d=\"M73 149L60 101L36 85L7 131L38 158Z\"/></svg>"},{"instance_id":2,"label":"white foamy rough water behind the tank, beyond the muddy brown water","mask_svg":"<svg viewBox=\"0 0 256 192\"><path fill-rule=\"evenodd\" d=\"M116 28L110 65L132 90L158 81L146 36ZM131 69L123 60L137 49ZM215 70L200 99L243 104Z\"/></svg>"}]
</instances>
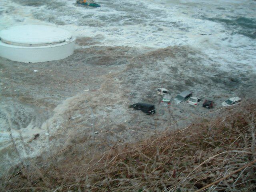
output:
<instances>
[{"instance_id":1,"label":"white foamy rough water behind the tank, beyond the muddy brown water","mask_svg":"<svg viewBox=\"0 0 256 192\"><path fill-rule=\"evenodd\" d=\"M192 46L210 58L221 58L224 69L229 62L241 62L255 70L256 39L234 34L224 23L207 18L254 18L256 2L98 0L100 8L86 8L75 2L42 0L42 6L24 6L2 0L0 29L28 23L62 24L78 37L102 36L102 46Z\"/></svg>"}]
</instances>

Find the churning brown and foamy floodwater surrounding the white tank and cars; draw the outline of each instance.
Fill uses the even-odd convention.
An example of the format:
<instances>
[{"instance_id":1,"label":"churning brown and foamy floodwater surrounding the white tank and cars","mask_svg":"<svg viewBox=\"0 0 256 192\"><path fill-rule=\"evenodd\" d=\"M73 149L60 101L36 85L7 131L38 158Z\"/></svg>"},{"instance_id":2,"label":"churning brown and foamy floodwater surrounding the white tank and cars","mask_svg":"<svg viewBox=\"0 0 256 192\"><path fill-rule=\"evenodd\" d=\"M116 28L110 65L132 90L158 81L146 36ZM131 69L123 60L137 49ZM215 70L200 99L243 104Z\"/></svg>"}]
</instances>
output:
<instances>
[{"instance_id":1,"label":"churning brown and foamy floodwater surrounding the white tank and cars","mask_svg":"<svg viewBox=\"0 0 256 192\"><path fill-rule=\"evenodd\" d=\"M255 1L102 0L97 9L72 0L2 2L1 29L58 24L78 36L74 54L64 60L0 58L3 170L19 161L10 127L22 158L34 157L49 151L48 140L54 151L79 138L111 145L218 115L186 103L159 104L159 87L173 96L190 90L213 98L215 111L226 98L255 97ZM156 114L128 109L140 101L155 104Z\"/></svg>"}]
</instances>

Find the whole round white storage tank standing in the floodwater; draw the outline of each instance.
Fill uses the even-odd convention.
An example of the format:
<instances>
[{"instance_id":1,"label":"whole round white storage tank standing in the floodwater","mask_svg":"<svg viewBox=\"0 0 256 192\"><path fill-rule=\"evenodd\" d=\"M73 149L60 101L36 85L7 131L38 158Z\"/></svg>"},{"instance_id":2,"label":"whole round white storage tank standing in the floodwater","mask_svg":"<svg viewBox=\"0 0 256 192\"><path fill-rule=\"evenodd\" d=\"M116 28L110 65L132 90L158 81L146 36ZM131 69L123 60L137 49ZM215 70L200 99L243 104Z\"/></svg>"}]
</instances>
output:
<instances>
[{"instance_id":1,"label":"whole round white storage tank standing in the floodwater","mask_svg":"<svg viewBox=\"0 0 256 192\"><path fill-rule=\"evenodd\" d=\"M45 25L13 26L0 31L0 56L20 62L44 62L73 54L75 37L65 29Z\"/></svg>"}]
</instances>

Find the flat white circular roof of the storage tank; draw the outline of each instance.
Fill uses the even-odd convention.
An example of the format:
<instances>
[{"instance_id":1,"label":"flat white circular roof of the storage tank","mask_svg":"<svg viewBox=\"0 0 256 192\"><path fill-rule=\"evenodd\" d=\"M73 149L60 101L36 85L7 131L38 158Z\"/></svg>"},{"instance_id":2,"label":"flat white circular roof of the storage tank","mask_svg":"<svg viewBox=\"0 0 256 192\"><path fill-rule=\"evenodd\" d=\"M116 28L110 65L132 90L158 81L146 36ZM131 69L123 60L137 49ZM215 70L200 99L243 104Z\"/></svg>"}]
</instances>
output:
<instances>
[{"instance_id":1,"label":"flat white circular roof of the storage tank","mask_svg":"<svg viewBox=\"0 0 256 192\"><path fill-rule=\"evenodd\" d=\"M0 38L6 42L24 44L45 44L60 42L72 37L65 29L46 25L13 26L0 31Z\"/></svg>"}]
</instances>

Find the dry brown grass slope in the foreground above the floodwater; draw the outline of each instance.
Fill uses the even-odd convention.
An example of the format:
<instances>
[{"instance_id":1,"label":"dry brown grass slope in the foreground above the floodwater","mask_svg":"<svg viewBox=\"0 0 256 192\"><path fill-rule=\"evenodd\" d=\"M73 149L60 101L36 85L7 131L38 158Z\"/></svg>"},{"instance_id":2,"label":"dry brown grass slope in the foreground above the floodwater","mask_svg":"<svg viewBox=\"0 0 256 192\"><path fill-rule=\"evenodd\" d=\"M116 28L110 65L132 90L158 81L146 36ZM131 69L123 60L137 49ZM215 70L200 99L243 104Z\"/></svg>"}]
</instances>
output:
<instances>
[{"instance_id":1,"label":"dry brown grass slope in the foreground above the floodwater","mask_svg":"<svg viewBox=\"0 0 256 192\"><path fill-rule=\"evenodd\" d=\"M49 159L2 178L5 191L185 192L256 190L256 104L136 143L116 143ZM102 142L103 143L103 142ZM74 152L79 151L79 152ZM28 177L29 175L29 180ZM32 185L32 186L31 186Z\"/></svg>"}]
</instances>

